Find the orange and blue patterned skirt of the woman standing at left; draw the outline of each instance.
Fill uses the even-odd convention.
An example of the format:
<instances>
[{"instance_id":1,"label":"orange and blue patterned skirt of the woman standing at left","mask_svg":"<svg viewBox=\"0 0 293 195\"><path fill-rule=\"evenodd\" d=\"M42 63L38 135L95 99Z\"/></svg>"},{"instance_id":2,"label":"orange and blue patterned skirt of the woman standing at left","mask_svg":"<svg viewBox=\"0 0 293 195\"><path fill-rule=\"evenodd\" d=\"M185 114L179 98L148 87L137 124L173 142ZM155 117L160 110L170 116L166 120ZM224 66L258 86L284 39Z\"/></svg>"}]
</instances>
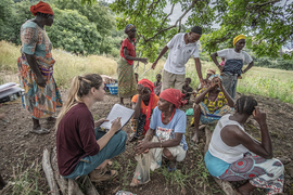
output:
<instances>
[{"instance_id":1,"label":"orange and blue patterned skirt of the woman standing at left","mask_svg":"<svg viewBox=\"0 0 293 195\"><path fill-rule=\"evenodd\" d=\"M48 74L48 72L42 70L48 67L39 67L46 79L46 87L42 88L37 84L37 77L30 69L24 55L18 57L17 66L21 88L25 90L22 96L23 107L33 118L43 119L51 117L55 113L56 107L62 106L61 94L52 73Z\"/></svg>"}]
</instances>

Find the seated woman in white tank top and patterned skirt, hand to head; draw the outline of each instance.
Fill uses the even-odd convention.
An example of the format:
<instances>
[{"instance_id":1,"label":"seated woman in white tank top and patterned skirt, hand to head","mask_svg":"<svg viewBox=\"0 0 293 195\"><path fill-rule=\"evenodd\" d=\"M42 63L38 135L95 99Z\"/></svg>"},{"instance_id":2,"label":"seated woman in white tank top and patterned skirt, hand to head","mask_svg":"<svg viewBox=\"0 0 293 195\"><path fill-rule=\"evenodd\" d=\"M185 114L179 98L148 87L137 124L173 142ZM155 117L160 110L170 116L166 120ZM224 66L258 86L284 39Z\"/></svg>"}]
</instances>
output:
<instances>
[{"instance_id":1,"label":"seated woman in white tank top and patterned skirt, hand to head","mask_svg":"<svg viewBox=\"0 0 293 195\"><path fill-rule=\"evenodd\" d=\"M238 195L250 194L257 187L267 188L268 194L282 193L282 162L290 161L280 159L281 162L272 158L266 114L256 106L257 102L252 96L238 99L235 113L225 115L218 121L204 158L209 173L220 180L249 180L235 190ZM260 127L262 143L247 134L243 128L251 115Z\"/></svg>"}]
</instances>

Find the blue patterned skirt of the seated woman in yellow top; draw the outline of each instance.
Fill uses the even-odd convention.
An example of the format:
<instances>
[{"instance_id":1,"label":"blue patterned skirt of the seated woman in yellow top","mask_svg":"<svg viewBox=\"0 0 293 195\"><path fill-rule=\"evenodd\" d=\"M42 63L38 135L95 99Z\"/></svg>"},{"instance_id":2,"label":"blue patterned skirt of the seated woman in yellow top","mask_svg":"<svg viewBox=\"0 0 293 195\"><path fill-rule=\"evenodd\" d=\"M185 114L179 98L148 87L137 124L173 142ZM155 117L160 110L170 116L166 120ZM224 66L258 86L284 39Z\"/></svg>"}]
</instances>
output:
<instances>
[{"instance_id":1,"label":"blue patterned skirt of the seated woman in yellow top","mask_svg":"<svg viewBox=\"0 0 293 195\"><path fill-rule=\"evenodd\" d=\"M193 104L194 107L194 104ZM234 113L234 108L225 105L221 108L217 109L214 114L211 114L209 110L207 109L207 106L201 102L200 104L201 107L201 122L204 125L207 123L213 123L215 121L218 121L224 115L229 114L229 113ZM192 118L192 121L190 125L192 126L194 122L194 118Z\"/></svg>"}]
</instances>

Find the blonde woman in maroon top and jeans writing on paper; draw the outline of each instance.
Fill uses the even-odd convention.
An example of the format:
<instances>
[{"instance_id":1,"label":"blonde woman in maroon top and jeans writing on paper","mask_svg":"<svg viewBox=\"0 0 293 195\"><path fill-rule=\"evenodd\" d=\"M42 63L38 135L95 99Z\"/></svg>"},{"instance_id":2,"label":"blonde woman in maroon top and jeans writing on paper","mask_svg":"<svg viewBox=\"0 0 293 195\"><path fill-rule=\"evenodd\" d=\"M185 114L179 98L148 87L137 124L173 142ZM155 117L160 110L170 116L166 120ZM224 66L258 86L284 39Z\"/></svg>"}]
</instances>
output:
<instances>
[{"instance_id":1,"label":"blonde woman in maroon top and jeans writing on paper","mask_svg":"<svg viewBox=\"0 0 293 195\"><path fill-rule=\"evenodd\" d=\"M100 75L73 79L67 102L56 121L58 166L64 178L89 174L91 181L100 182L117 176L117 171L105 167L111 158L125 151L127 134L119 131L120 119L115 119L106 133L101 132L95 127L106 120L93 121L89 110L95 102L103 101L104 93Z\"/></svg>"}]
</instances>

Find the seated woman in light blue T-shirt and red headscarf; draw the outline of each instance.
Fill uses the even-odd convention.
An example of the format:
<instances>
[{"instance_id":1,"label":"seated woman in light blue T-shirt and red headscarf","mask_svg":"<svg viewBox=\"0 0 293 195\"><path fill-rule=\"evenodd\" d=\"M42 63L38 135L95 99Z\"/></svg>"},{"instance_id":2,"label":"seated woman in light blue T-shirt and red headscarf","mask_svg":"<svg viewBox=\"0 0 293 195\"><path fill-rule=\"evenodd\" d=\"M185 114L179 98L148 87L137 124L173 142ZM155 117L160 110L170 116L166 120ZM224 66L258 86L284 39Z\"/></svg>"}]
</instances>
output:
<instances>
[{"instance_id":1,"label":"seated woman in light blue T-shirt and red headscarf","mask_svg":"<svg viewBox=\"0 0 293 195\"><path fill-rule=\"evenodd\" d=\"M153 170L161 166L162 155L169 160L169 171L176 170L176 162L186 158L188 150L184 138L187 116L184 112L178 109L182 104L182 96L180 90L171 88L160 93L150 129L144 140L136 147L137 155L148 152L152 154L151 168ZM140 178L141 176L135 174L130 185L138 185Z\"/></svg>"}]
</instances>

